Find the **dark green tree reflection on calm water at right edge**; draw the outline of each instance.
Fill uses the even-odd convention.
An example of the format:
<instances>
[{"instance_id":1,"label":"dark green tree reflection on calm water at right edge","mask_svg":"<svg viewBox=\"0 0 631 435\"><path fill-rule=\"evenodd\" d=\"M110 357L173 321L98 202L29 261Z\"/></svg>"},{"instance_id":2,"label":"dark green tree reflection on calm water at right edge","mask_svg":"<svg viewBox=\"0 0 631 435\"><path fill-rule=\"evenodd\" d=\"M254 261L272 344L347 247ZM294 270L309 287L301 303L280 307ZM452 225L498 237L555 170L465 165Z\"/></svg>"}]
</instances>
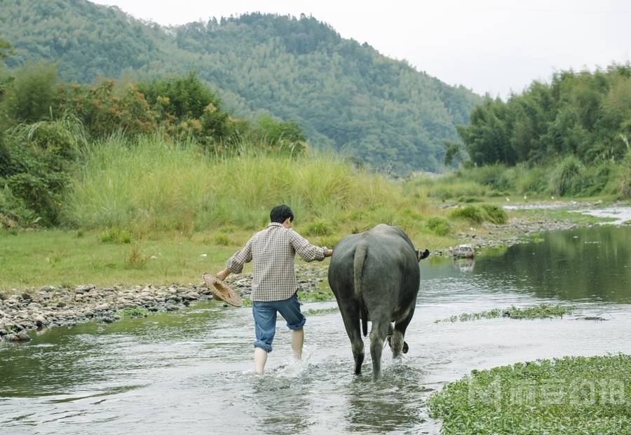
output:
<instances>
[{"instance_id":1,"label":"dark green tree reflection on calm water at right edge","mask_svg":"<svg viewBox=\"0 0 631 435\"><path fill-rule=\"evenodd\" d=\"M631 228L551 233L488 258L475 273L489 286L508 284L540 298L631 303Z\"/></svg>"}]
</instances>

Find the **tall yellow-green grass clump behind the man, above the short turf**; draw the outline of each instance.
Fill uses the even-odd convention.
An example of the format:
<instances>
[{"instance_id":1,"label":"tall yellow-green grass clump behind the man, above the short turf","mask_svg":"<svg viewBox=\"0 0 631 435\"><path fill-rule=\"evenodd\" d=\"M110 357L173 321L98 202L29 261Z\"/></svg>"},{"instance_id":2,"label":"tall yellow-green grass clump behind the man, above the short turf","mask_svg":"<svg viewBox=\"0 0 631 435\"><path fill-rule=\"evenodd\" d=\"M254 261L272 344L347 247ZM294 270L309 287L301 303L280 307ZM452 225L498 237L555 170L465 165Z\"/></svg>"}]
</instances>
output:
<instances>
[{"instance_id":1,"label":"tall yellow-green grass clump behind the man, above the short turf","mask_svg":"<svg viewBox=\"0 0 631 435\"><path fill-rule=\"evenodd\" d=\"M183 232L258 228L283 202L302 221L409 205L392 181L327 153L216 158L159 136L94 144L66 198L65 218L75 226Z\"/></svg>"}]
</instances>

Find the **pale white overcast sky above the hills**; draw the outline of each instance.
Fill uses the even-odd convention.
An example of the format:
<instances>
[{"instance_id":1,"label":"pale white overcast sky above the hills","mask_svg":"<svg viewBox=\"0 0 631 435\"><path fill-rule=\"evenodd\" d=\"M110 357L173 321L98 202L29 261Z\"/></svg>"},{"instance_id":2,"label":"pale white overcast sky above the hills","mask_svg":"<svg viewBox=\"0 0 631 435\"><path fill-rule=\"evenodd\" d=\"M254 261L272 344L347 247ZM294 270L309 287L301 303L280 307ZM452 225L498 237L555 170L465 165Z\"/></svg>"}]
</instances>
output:
<instances>
[{"instance_id":1,"label":"pale white overcast sky above the hills","mask_svg":"<svg viewBox=\"0 0 631 435\"><path fill-rule=\"evenodd\" d=\"M628 0L93 1L161 25L248 12L313 15L344 38L493 97L559 69L593 70L631 55Z\"/></svg>"}]
</instances>

